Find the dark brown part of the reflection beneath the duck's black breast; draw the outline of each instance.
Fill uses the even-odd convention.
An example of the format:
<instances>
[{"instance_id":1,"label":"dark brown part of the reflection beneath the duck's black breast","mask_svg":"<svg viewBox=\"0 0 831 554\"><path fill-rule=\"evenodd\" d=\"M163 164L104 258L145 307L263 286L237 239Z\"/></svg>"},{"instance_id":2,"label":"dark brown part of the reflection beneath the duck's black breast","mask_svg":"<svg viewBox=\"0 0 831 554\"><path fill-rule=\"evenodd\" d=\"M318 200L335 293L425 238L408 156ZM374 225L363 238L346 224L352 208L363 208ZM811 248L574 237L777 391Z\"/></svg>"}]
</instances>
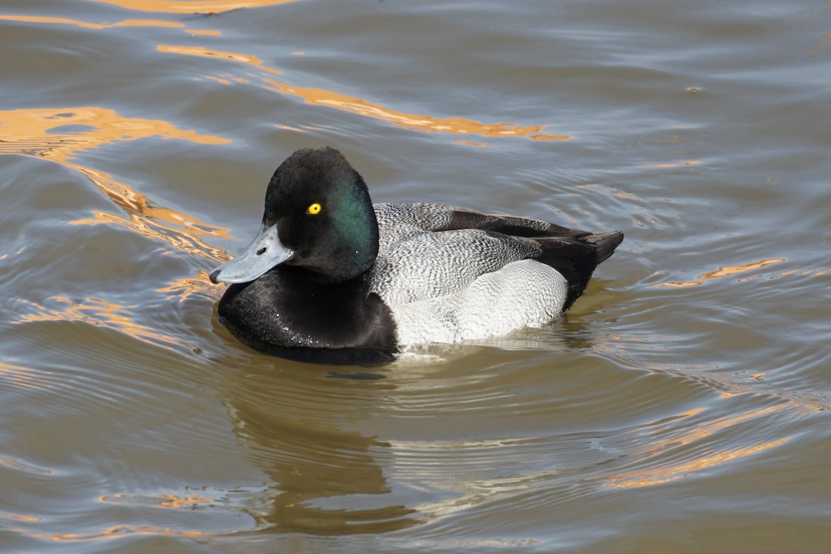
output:
<instances>
[{"instance_id":1,"label":"dark brown part of the reflection beneath the duck's black breast","mask_svg":"<svg viewBox=\"0 0 831 554\"><path fill-rule=\"evenodd\" d=\"M264 362L263 362L264 360ZM349 429L371 418L383 380L332 379L342 368L260 359L232 375L234 433L268 483L248 508L274 532L380 533L419 522L396 503L383 460L391 445Z\"/></svg>"}]
</instances>

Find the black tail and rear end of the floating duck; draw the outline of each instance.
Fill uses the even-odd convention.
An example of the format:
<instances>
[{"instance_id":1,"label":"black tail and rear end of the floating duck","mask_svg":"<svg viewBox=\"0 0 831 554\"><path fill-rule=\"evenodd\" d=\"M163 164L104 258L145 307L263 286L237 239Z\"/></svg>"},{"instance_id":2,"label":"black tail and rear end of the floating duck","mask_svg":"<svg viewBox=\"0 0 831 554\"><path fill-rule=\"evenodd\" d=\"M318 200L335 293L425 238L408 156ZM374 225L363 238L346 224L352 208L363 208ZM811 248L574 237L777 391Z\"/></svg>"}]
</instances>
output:
<instances>
[{"instance_id":1,"label":"black tail and rear end of the floating duck","mask_svg":"<svg viewBox=\"0 0 831 554\"><path fill-rule=\"evenodd\" d=\"M586 290L597 264L612 256L617 245L622 243L623 233L581 233L571 237L534 237L531 240L543 247L543 254L538 260L562 273L568 282L566 302L563 304L563 311L566 311Z\"/></svg>"}]
</instances>

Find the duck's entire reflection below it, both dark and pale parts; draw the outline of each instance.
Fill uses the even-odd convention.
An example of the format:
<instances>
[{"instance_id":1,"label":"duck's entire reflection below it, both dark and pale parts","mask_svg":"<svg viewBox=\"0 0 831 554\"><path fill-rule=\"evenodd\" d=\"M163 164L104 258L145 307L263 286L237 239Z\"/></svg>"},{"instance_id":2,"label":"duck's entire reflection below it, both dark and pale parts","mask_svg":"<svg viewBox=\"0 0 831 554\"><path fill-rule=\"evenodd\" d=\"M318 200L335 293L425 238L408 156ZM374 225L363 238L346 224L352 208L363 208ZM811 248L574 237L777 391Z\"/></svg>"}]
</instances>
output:
<instances>
[{"instance_id":1,"label":"duck's entire reflection below it, both dark and pale parts","mask_svg":"<svg viewBox=\"0 0 831 554\"><path fill-rule=\"evenodd\" d=\"M214 330L231 340L215 320ZM489 400L494 388L500 397L520 394L500 371L529 351L588 348L591 336L579 323L558 323L496 344L414 347L377 369L234 350L228 364L238 369L228 375L224 404L245 457L267 476L244 502L246 512L263 532L382 533L518 493L540 461L512 458L521 445L483 442L473 429L484 419L471 420L478 418L470 404L493 403L477 410L483 418L509 417ZM455 425L449 434L456 436L434 428L436 417ZM478 473L465 467L468 458ZM503 462L514 477L494 481L481 473L491 463L494 474L504 473Z\"/></svg>"}]
</instances>

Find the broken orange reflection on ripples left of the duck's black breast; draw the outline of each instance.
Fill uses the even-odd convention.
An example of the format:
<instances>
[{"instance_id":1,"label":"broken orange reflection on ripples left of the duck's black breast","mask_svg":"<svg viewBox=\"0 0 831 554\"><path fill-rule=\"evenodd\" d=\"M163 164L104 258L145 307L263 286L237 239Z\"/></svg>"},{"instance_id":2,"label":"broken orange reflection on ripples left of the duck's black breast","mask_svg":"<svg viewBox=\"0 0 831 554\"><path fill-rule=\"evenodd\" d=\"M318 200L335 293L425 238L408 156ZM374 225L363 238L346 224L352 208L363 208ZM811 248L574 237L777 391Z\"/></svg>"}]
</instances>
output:
<instances>
[{"instance_id":1,"label":"broken orange reflection on ripples left of the duck's black breast","mask_svg":"<svg viewBox=\"0 0 831 554\"><path fill-rule=\"evenodd\" d=\"M83 321L89 325L106 327L120 331L125 335L145 342L162 346L182 345L175 336L164 335L148 326L135 323L130 318L127 306L106 302L98 298L87 298L82 304L76 304L66 297L53 297L51 300L66 305L64 310L49 310L37 302L24 301L37 312L21 316L15 323L30 321Z\"/></svg>"}]
</instances>

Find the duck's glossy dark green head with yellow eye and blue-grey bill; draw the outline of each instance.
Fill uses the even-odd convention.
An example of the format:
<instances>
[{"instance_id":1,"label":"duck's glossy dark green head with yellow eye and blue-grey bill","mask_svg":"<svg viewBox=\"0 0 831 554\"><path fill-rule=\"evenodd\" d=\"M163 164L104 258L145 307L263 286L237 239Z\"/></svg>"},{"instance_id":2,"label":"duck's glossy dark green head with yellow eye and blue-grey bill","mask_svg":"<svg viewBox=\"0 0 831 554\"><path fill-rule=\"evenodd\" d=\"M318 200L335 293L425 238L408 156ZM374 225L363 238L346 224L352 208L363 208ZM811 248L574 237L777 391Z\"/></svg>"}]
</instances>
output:
<instances>
[{"instance_id":1,"label":"duck's glossy dark green head with yellow eye and blue-grey bill","mask_svg":"<svg viewBox=\"0 0 831 554\"><path fill-rule=\"evenodd\" d=\"M274 172L263 226L212 282L249 282L280 264L324 282L357 277L375 262L378 223L361 175L329 147L297 150Z\"/></svg>"}]
</instances>

